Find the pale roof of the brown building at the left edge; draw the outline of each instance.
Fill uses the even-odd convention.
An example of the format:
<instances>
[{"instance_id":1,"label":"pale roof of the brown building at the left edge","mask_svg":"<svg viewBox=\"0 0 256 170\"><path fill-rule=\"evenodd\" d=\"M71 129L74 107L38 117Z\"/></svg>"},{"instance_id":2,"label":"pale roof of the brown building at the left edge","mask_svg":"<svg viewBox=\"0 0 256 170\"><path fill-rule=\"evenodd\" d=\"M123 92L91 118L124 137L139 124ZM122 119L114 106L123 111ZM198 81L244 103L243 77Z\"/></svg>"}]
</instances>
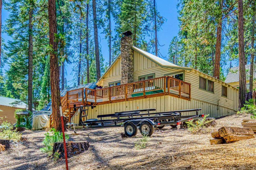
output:
<instances>
[{"instance_id":1,"label":"pale roof of the brown building at the left edge","mask_svg":"<svg viewBox=\"0 0 256 170\"><path fill-rule=\"evenodd\" d=\"M12 104L15 103L15 104ZM0 105L26 109L27 104L19 99L0 96Z\"/></svg>"}]
</instances>

